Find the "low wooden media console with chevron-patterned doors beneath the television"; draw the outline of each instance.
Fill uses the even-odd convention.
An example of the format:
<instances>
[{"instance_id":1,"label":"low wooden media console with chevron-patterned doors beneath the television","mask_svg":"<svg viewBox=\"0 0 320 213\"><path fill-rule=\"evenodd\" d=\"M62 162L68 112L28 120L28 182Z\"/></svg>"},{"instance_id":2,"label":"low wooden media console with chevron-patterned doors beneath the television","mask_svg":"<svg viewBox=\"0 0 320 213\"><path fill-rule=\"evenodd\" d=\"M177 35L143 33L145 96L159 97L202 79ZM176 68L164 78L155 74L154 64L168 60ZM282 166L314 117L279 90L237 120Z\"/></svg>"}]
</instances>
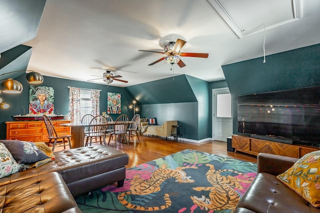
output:
<instances>
[{"instance_id":1,"label":"low wooden media console with chevron-patterned doors beneath the television","mask_svg":"<svg viewBox=\"0 0 320 213\"><path fill-rule=\"evenodd\" d=\"M301 158L307 153L319 150L313 147L265 141L240 135L232 135L231 143L232 147L235 148L235 152L239 151L251 155L269 153L292 158Z\"/></svg>"}]
</instances>

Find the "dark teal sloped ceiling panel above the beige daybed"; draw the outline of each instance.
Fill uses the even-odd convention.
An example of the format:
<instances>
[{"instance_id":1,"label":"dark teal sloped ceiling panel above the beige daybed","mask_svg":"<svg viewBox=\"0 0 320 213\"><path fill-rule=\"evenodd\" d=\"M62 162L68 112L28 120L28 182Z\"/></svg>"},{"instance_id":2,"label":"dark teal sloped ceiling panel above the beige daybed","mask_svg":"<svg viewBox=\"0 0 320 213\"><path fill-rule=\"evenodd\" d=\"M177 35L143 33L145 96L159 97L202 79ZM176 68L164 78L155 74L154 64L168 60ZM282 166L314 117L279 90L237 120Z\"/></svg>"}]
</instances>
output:
<instances>
[{"instance_id":1,"label":"dark teal sloped ceiling panel above the beige daybed","mask_svg":"<svg viewBox=\"0 0 320 213\"><path fill-rule=\"evenodd\" d=\"M138 104L197 102L185 75L128 86L125 90Z\"/></svg>"}]
</instances>

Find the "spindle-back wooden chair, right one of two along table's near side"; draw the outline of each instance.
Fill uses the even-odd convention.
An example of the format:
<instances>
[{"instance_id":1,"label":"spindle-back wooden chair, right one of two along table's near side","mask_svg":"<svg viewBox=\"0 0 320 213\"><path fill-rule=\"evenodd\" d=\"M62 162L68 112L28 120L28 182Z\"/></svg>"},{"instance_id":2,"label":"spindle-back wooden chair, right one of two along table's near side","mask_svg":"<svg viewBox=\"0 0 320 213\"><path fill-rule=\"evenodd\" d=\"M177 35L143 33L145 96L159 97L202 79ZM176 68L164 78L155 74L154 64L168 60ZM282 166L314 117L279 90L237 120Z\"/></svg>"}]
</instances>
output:
<instances>
[{"instance_id":1,"label":"spindle-back wooden chair, right one of two along table's near side","mask_svg":"<svg viewBox=\"0 0 320 213\"><path fill-rule=\"evenodd\" d=\"M126 138L128 125L128 116L125 114L120 115L114 122L113 129L110 133L108 145L110 143L111 137L114 137L114 147L116 146L116 143L121 143L122 140L124 140L129 145L129 142Z\"/></svg>"}]
</instances>

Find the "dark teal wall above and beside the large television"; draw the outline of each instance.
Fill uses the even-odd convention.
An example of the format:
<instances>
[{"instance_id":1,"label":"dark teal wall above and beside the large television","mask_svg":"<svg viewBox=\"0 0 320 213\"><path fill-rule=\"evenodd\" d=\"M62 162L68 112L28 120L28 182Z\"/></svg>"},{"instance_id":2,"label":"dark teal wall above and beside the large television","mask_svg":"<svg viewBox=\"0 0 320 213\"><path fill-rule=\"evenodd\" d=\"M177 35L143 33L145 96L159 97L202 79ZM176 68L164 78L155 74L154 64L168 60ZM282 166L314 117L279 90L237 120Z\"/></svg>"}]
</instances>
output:
<instances>
[{"instance_id":1,"label":"dark teal wall above and beside the large television","mask_svg":"<svg viewBox=\"0 0 320 213\"><path fill-rule=\"evenodd\" d=\"M237 133L237 96L320 85L320 44L223 65Z\"/></svg>"}]
</instances>

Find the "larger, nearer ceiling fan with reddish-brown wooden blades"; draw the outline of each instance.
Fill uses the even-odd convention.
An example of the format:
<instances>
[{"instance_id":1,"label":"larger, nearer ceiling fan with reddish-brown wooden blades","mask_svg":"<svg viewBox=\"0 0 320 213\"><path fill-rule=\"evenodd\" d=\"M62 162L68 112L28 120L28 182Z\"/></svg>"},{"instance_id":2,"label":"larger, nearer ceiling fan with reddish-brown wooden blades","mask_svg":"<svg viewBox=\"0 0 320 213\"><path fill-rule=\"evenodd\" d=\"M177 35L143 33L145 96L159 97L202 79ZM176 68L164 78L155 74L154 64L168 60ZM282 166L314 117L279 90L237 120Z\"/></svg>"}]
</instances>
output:
<instances>
[{"instance_id":1,"label":"larger, nearer ceiling fan with reddish-brown wooden blades","mask_svg":"<svg viewBox=\"0 0 320 213\"><path fill-rule=\"evenodd\" d=\"M175 42L171 41L168 44L166 44L164 46L164 52L152 51L152 50L138 50L138 51L154 52L154 53L161 53L166 55L160 58L159 60L156 60L148 65L153 65L153 64L156 64L157 62L165 60L165 62L171 65L176 63L179 67L184 67L185 64L180 59L180 56L199 57L199 58L207 58L209 56L208 53L180 52L180 49L185 43L186 41L178 38Z\"/></svg>"}]
</instances>

